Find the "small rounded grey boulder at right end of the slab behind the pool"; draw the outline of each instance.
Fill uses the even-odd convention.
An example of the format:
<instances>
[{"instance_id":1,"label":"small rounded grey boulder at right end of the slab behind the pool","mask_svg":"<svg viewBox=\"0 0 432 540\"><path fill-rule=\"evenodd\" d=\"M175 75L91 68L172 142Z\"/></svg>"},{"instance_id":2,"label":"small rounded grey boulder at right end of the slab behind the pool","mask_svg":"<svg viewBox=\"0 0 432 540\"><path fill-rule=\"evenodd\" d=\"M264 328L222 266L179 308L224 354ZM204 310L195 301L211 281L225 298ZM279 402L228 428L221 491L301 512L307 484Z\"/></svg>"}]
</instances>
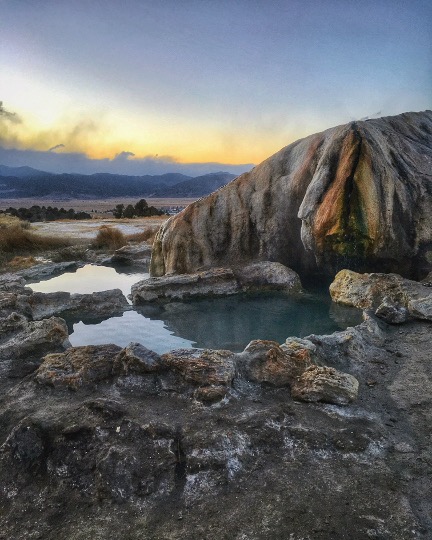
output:
<instances>
[{"instance_id":1,"label":"small rounded grey boulder at right end of the slab behind the pool","mask_svg":"<svg viewBox=\"0 0 432 540\"><path fill-rule=\"evenodd\" d=\"M300 291L300 278L294 270L281 263L262 261L234 268L243 290L273 289L290 292Z\"/></svg>"}]
</instances>

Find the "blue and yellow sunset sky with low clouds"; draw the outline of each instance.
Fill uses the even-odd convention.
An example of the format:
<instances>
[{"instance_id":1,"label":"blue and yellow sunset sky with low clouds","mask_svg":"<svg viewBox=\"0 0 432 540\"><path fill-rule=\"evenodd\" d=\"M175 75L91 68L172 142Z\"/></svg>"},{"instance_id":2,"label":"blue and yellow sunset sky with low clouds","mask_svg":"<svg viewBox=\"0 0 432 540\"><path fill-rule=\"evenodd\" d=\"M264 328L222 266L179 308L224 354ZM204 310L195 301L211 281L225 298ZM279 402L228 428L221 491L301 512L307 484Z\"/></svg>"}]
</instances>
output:
<instances>
[{"instance_id":1,"label":"blue and yellow sunset sky with low clouds","mask_svg":"<svg viewBox=\"0 0 432 540\"><path fill-rule=\"evenodd\" d=\"M242 172L432 108L429 0L0 0L0 163Z\"/></svg>"}]
</instances>

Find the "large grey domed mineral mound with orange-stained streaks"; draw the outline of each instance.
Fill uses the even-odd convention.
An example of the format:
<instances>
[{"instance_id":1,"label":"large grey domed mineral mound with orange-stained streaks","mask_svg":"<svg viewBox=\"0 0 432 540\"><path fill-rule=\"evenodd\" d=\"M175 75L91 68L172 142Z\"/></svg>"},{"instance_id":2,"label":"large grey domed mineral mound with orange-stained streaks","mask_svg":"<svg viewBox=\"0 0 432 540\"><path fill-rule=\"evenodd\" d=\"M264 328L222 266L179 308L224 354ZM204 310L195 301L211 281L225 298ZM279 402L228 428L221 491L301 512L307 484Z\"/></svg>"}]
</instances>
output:
<instances>
[{"instance_id":1,"label":"large grey domed mineral mound with orange-stained streaks","mask_svg":"<svg viewBox=\"0 0 432 540\"><path fill-rule=\"evenodd\" d=\"M301 274L426 271L431 165L432 111L299 140L162 225L151 274L261 260Z\"/></svg>"}]
</instances>

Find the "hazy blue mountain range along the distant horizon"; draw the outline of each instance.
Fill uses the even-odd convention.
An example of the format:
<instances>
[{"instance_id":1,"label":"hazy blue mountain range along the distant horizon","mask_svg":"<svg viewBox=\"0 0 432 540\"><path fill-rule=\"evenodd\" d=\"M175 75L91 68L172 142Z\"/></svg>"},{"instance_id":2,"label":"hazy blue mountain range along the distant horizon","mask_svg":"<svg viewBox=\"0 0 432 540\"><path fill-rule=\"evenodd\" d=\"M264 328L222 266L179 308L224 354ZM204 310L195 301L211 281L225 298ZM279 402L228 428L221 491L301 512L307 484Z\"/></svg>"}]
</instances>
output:
<instances>
[{"instance_id":1,"label":"hazy blue mountain range along the distant horizon","mask_svg":"<svg viewBox=\"0 0 432 540\"><path fill-rule=\"evenodd\" d=\"M98 173L53 174L32 167L0 165L0 199L107 198L107 197L202 197L235 178L218 172L195 178L178 173L159 176L126 176Z\"/></svg>"}]
</instances>

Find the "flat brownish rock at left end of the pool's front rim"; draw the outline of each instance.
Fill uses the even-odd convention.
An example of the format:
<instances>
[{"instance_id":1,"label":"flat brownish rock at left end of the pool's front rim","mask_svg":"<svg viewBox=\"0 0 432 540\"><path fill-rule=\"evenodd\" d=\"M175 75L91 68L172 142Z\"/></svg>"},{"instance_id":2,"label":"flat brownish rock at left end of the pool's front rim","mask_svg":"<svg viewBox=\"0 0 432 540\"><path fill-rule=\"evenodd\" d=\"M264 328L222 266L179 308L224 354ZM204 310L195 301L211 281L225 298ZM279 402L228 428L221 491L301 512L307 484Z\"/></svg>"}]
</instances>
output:
<instances>
[{"instance_id":1,"label":"flat brownish rock at left end of the pool's front rim","mask_svg":"<svg viewBox=\"0 0 432 540\"><path fill-rule=\"evenodd\" d=\"M36 372L39 384L78 390L112 377L117 345L71 347L64 353L45 356Z\"/></svg>"}]
</instances>

